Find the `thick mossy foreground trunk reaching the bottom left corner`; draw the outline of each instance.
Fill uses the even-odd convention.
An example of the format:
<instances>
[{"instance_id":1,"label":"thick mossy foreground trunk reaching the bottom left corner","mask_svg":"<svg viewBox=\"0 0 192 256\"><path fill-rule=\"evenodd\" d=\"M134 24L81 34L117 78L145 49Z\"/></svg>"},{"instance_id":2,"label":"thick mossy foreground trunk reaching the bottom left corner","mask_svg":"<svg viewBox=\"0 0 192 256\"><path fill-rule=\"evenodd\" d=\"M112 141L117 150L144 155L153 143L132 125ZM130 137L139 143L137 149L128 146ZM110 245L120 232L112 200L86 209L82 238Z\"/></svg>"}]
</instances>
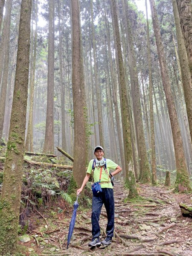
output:
<instances>
[{"instance_id":1,"label":"thick mossy foreground trunk reaching the bottom left corner","mask_svg":"<svg viewBox=\"0 0 192 256\"><path fill-rule=\"evenodd\" d=\"M14 255L17 247L29 76L31 2L22 0L20 9L15 88L0 196L0 256Z\"/></svg>"}]
</instances>

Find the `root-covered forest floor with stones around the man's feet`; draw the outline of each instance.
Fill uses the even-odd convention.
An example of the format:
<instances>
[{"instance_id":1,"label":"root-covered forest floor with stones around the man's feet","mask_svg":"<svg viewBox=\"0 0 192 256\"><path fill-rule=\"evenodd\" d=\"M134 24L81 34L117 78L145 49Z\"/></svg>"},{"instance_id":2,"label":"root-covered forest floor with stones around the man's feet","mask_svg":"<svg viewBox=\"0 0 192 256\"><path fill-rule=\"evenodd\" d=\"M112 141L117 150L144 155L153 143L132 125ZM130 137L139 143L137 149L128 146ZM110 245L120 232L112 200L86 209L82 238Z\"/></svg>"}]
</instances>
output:
<instances>
[{"instance_id":1,"label":"root-covered forest floor with stones around the man's feet","mask_svg":"<svg viewBox=\"0 0 192 256\"><path fill-rule=\"evenodd\" d=\"M174 194L163 186L143 184L138 185L138 191L139 198L128 201L128 190L115 182L115 232L110 246L88 247L92 239L91 209L85 211L80 205L68 250L66 238L73 207L52 214L52 218L48 211L36 212L32 217L39 226L29 234L30 241L20 242L26 247L26 256L192 256L192 218L183 217L179 208L181 202L192 204L192 194ZM46 221L49 229L45 234L41 230L47 228ZM101 239L105 238L106 224L103 207Z\"/></svg>"}]
</instances>

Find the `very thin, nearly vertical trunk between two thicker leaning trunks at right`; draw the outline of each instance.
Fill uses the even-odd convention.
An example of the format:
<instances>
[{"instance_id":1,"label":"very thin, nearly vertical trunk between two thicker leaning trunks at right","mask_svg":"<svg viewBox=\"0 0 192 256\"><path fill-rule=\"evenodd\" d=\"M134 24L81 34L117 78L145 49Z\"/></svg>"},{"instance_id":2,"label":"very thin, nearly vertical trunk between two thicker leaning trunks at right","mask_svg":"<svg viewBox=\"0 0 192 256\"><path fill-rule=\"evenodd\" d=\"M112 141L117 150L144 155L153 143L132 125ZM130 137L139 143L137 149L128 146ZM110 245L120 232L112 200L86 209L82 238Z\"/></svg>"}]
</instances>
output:
<instances>
[{"instance_id":1,"label":"very thin, nearly vertical trunk between two thicker leaning trunks at right","mask_svg":"<svg viewBox=\"0 0 192 256\"><path fill-rule=\"evenodd\" d=\"M152 72L151 72L151 54L150 54L150 41L149 41L147 0L145 0L145 7L146 7L146 19L147 19L147 56L148 56L149 105L150 105L150 127L151 127L151 170L152 170L152 185L156 185L157 172L156 172L154 116L153 116L154 110L153 110Z\"/></svg>"}]
</instances>

